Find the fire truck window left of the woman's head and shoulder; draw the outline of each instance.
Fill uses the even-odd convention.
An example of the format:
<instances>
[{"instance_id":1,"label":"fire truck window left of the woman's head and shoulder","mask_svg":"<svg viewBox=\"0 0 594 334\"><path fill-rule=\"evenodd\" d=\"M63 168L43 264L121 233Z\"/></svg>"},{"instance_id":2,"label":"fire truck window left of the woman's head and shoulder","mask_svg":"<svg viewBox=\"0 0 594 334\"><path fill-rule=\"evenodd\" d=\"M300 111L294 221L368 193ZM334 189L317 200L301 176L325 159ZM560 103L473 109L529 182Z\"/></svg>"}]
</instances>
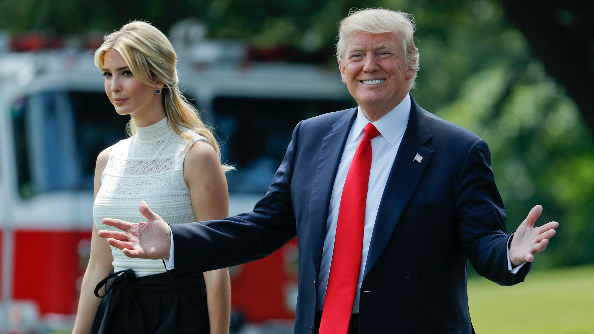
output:
<instances>
[{"instance_id":1,"label":"fire truck window left of the woman's head and shoulder","mask_svg":"<svg viewBox=\"0 0 594 334\"><path fill-rule=\"evenodd\" d=\"M78 92L21 97L11 118L23 199L49 191L92 190L97 154L126 137L128 121L113 111L105 94Z\"/></svg>"}]
</instances>

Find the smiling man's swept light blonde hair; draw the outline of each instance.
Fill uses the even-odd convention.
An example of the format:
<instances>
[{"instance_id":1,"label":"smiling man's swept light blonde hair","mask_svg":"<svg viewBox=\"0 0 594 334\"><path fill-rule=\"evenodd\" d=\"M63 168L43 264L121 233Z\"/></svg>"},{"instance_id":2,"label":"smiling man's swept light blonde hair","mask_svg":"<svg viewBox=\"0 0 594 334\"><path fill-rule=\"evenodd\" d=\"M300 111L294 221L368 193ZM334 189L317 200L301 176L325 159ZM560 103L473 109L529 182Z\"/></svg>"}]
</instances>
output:
<instances>
[{"instance_id":1,"label":"smiling man's swept light blonde hair","mask_svg":"<svg viewBox=\"0 0 594 334\"><path fill-rule=\"evenodd\" d=\"M415 22L413 16L401 11L384 8L355 10L340 21L336 56L343 61L346 36L351 33L395 33L401 40L405 52L405 64L415 70L410 80L410 88L415 86L416 73L419 70L419 51L415 46Z\"/></svg>"}]
</instances>

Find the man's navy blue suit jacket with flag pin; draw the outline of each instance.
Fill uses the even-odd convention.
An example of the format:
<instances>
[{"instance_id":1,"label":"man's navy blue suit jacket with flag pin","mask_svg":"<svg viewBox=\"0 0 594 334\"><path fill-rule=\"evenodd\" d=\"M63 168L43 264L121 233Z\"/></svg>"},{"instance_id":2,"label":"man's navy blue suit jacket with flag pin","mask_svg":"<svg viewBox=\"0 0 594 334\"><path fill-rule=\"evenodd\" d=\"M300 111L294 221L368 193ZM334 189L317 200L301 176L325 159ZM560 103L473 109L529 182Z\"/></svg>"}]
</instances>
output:
<instances>
[{"instance_id":1,"label":"man's navy blue suit jacket with flag pin","mask_svg":"<svg viewBox=\"0 0 594 334\"><path fill-rule=\"evenodd\" d=\"M171 225L175 274L262 259L297 236L295 333L309 334L330 194L355 117L356 108L300 122L254 212ZM413 100L369 246L361 333L470 334L467 259L500 285L522 282L530 269L509 272L508 238L485 141Z\"/></svg>"}]
</instances>

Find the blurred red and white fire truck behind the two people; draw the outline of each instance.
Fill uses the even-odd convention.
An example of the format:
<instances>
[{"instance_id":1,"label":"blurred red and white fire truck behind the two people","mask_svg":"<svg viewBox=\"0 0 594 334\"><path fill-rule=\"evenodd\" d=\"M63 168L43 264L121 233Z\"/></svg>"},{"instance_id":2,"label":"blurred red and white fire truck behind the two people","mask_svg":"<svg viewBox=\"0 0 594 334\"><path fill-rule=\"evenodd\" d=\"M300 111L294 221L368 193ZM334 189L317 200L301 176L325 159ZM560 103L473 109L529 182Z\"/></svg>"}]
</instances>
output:
<instances>
[{"instance_id":1,"label":"blurred red and white fire truck behind the two people","mask_svg":"<svg viewBox=\"0 0 594 334\"><path fill-rule=\"evenodd\" d=\"M230 215L249 212L295 125L353 102L337 68L254 62L241 43L181 37L172 38L180 86L238 169L228 175ZM71 328L90 252L94 162L125 138L127 121L105 95L93 50L0 55L0 333ZM296 242L230 268L233 311L254 330L282 319L292 330Z\"/></svg>"}]
</instances>

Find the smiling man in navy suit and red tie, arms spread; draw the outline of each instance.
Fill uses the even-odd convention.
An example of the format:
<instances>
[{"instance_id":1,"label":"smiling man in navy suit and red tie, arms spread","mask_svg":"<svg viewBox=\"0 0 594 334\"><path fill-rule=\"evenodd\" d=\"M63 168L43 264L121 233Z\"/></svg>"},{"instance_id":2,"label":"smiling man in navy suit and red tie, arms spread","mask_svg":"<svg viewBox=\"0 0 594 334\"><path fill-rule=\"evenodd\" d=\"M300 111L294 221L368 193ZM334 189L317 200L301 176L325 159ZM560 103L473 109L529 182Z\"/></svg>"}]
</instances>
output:
<instances>
[{"instance_id":1,"label":"smiling man in navy suit and red tie, arms spread","mask_svg":"<svg viewBox=\"0 0 594 334\"><path fill-rule=\"evenodd\" d=\"M485 141L409 95L413 31L389 10L341 22L340 72L358 107L297 125L254 212L168 226L141 202L147 223L106 218L128 233L100 236L130 257L168 258L175 275L258 260L297 236L295 333L473 332L467 260L522 282L558 223L534 228L536 206L507 234Z\"/></svg>"}]
</instances>

